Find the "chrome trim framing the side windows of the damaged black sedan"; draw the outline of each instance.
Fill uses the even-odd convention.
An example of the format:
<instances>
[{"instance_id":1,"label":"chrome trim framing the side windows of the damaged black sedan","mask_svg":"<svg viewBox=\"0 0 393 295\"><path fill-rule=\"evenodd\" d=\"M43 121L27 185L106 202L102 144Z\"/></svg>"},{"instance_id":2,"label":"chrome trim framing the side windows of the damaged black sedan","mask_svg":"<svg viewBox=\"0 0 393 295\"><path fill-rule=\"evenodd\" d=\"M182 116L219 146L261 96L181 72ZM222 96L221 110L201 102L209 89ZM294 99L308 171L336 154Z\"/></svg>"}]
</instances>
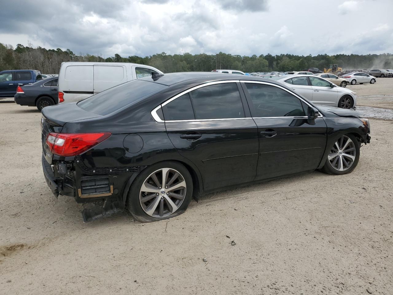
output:
<instances>
[{"instance_id":1,"label":"chrome trim framing the side windows of the damaged black sedan","mask_svg":"<svg viewBox=\"0 0 393 295\"><path fill-rule=\"evenodd\" d=\"M168 123L174 123L174 122L206 122L206 121L222 121L222 120L244 120L244 119L307 119L307 116L293 116L293 117L247 117L247 118L224 118L224 119L194 119L194 120L161 120L161 118L158 116L157 111L162 108L164 105L167 105L168 103L170 103L171 101L175 100L176 98L189 93L195 89L199 89L205 86L209 86L209 85L215 85L215 84L223 84L223 83L257 83L257 84L265 84L265 85L270 85L270 86L274 86L274 87L278 87L280 89L285 90L286 92L288 92L289 94L292 94L293 96L295 96L296 98L298 98L299 100L303 101L304 103L306 103L307 105L309 105L310 107L312 107L312 105L310 105L307 101L303 100L303 98L301 98L300 96L298 96L296 93L290 92L288 89L286 89L285 87L282 87L280 85L276 85L276 84L272 84L272 83L268 83L268 82L262 82L262 81L252 81L252 80L222 80L222 81L211 81L211 82L206 82L204 84L201 85L197 85L194 86L190 89L184 90L183 92L180 92L179 94L176 94L175 96L173 96L172 98L169 98L168 100L164 101L162 104L158 105L157 107L155 107L152 111L151 111L151 115L154 118L154 120L156 122L160 122L160 123L164 123L164 122L168 122ZM323 114L321 112L319 112L320 115L318 116L318 118L323 118Z\"/></svg>"}]
</instances>

